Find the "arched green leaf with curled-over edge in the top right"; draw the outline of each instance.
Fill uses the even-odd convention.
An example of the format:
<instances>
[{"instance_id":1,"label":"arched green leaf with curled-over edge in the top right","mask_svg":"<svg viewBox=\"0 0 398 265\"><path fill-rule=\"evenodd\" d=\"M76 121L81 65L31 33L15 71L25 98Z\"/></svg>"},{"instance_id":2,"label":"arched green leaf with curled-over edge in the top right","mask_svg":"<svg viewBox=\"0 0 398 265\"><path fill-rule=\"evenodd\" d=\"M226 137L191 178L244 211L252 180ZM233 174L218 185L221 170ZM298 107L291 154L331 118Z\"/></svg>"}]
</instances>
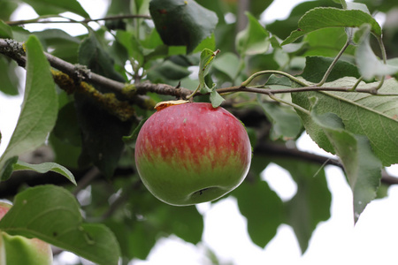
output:
<instances>
[{"instance_id":1,"label":"arched green leaf with curled-over edge in the top right","mask_svg":"<svg viewBox=\"0 0 398 265\"><path fill-rule=\"evenodd\" d=\"M360 10L342 10L333 7L319 7L306 12L293 31L281 45L295 42L305 34L325 27L361 27L371 25L371 33L381 37L381 27L370 14Z\"/></svg>"}]
</instances>

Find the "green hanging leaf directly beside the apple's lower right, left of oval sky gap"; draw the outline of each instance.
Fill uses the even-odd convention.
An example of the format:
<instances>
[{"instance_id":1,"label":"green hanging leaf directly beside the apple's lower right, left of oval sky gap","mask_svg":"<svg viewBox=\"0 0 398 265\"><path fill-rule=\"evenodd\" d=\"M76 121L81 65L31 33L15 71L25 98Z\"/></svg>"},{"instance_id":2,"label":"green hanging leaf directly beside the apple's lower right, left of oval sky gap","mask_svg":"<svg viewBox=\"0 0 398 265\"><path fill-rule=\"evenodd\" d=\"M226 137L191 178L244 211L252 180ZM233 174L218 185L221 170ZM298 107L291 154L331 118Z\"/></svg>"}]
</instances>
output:
<instances>
[{"instance_id":1,"label":"green hanging leaf directly beside the apple's lower right, left of oval sky gap","mask_svg":"<svg viewBox=\"0 0 398 265\"><path fill-rule=\"evenodd\" d=\"M260 247L273 239L284 221L282 201L265 181L260 180L260 173L266 165L263 157L254 156L249 174L256 175L256 179L243 181L232 193L241 214L248 220L250 239Z\"/></svg>"}]
</instances>

